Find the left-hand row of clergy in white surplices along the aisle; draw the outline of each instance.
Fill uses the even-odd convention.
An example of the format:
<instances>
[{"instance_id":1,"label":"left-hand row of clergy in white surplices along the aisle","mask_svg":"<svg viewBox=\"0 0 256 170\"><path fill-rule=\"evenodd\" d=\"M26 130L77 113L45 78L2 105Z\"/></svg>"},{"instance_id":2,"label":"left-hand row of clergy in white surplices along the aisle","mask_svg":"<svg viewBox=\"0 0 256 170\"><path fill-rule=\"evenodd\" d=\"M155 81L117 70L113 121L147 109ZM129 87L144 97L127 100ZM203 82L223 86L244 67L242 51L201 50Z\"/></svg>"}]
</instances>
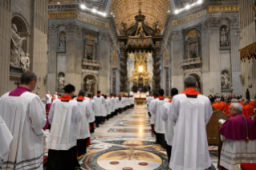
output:
<instances>
[{"instance_id":1,"label":"left-hand row of clergy in white surplices along the aisle","mask_svg":"<svg viewBox=\"0 0 256 170\"><path fill-rule=\"evenodd\" d=\"M64 95L55 94L52 103L47 92L49 136L46 107L35 90L37 76L30 71L22 74L21 85L0 98L0 169L43 170L44 138L48 137L47 169L79 169L78 157L87 152L95 127L122 111L134 107L132 97L98 94L91 99L80 90L73 98L75 87L68 84ZM51 107L51 108L50 108Z\"/></svg>"}]
</instances>

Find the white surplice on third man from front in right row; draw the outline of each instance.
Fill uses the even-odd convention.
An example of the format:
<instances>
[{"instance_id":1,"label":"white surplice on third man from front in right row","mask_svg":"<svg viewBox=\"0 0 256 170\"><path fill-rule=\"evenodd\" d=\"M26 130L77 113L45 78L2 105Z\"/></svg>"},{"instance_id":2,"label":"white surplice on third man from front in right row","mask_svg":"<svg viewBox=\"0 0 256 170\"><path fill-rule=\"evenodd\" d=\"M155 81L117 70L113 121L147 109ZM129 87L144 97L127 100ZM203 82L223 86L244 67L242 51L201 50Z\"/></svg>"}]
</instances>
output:
<instances>
[{"instance_id":1,"label":"white surplice on third man from front in right row","mask_svg":"<svg viewBox=\"0 0 256 170\"><path fill-rule=\"evenodd\" d=\"M165 134L165 121L161 118L161 107L163 104L168 102L168 99L155 99L153 103L151 103L151 111L154 115L155 119L155 132Z\"/></svg>"}]
</instances>

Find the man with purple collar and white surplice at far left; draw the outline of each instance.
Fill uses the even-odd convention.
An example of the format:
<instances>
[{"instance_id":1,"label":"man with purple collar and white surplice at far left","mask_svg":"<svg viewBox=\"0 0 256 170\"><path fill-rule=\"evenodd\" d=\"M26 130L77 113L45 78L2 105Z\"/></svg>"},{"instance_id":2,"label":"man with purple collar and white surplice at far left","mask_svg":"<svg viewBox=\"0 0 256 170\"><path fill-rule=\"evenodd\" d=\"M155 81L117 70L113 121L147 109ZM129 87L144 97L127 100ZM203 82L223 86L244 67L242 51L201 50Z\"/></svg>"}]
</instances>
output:
<instances>
[{"instance_id":1,"label":"man with purple collar and white surplice at far left","mask_svg":"<svg viewBox=\"0 0 256 170\"><path fill-rule=\"evenodd\" d=\"M0 99L0 115L14 137L2 169L43 169L46 111L39 96L30 92L36 87L37 76L27 71L21 75L20 83Z\"/></svg>"}]
</instances>

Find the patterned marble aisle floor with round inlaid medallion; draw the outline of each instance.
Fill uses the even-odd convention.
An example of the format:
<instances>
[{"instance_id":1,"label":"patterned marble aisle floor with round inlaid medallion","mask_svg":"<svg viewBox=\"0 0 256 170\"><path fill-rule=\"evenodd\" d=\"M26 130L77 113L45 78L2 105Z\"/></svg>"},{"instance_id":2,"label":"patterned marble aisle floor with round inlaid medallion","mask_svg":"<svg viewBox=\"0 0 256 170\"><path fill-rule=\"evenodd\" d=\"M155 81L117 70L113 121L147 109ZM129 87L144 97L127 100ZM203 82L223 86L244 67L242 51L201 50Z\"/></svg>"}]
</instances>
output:
<instances>
[{"instance_id":1,"label":"patterned marble aisle floor with round inlaid medallion","mask_svg":"<svg viewBox=\"0 0 256 170\"><path fill-rule=\"evenodd\" d=\"M167 156L151 135L145 105L135 106L109 119L91 135L87 154L79 157L83 170L167 170ZM216 148L211 146L211 148ZM47 155L47 150L45 152ZM217 152L210 152L217 167Z\"/></svg>"}]
</instances>

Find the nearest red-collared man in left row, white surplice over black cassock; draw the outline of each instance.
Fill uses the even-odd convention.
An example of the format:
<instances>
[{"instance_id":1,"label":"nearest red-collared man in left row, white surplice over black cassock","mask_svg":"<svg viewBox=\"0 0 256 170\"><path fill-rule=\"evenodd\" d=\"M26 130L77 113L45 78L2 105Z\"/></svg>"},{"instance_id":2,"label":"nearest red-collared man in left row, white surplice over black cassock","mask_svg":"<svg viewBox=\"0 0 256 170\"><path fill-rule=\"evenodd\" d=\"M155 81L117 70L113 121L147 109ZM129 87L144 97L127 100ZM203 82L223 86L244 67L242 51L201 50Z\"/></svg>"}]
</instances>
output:
<instances>
[{"instance_id":1,"label":"nearest red-collared man in left row, white surplice over black cassock","mask_svg":"<svg viewBox=\"0 0 256 170\"><path fill-rule=\"evenodd\" d=\"M76 158L77 123L82 120L83 111L72 99L75 87L67 84L64 95L52 103L48 116L51 123L47 148L47 170L71 170L80 167Z\"/></svg>"}]
</instances>

